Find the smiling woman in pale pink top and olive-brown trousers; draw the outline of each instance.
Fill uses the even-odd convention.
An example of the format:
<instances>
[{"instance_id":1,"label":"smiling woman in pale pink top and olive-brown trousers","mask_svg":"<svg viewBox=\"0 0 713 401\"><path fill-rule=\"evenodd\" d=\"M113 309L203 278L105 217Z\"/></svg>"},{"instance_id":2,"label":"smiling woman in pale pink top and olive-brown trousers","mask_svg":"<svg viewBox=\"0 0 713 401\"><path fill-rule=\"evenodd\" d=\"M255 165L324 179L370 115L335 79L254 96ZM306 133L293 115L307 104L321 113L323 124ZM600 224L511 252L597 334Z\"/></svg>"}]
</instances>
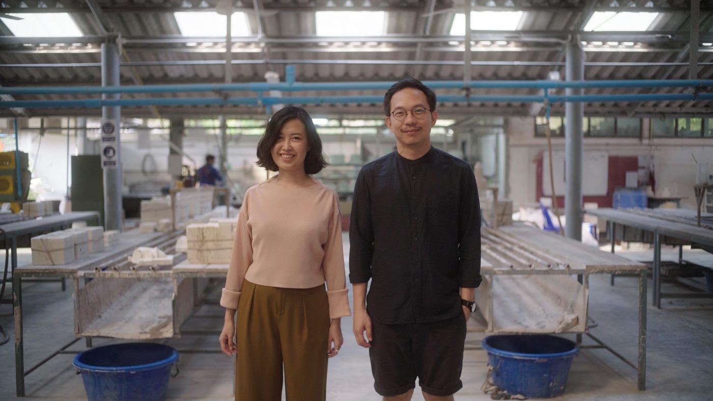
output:
<instances>
[{"instance_id":1,"label":"smiling woman in pale pink top and olive-brown trousers","mask_svg":"<svg viewBox=\"0 0 713 401\"><path fill-rule=\"evenodd\" d=\"M237 354L236 400L280 400L283 365L287 400L325 400L327 358L339 352L340 318L351 312L337 193L309 177L327 163L307 111L275 113L257 158L279 174L245 193L220 298L220 347Z\"/></svg>"}]
</instances>

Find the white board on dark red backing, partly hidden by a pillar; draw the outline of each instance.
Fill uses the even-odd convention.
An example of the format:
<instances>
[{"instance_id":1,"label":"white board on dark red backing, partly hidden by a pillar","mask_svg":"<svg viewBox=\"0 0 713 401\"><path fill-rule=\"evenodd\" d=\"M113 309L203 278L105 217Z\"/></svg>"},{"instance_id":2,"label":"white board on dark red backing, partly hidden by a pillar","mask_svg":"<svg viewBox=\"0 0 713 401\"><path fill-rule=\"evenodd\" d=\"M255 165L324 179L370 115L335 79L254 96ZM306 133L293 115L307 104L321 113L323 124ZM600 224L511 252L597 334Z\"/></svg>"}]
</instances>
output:
<instances>
[{"instance_id":1,"label":"white board on dark red backing, partly hidden by a pillar","mask_svg":"<svg viewBox=\"0 0 713 401\"><path fill-rule=\"evenodd\" d=\"M553 175L555 178L555 194L564 196L565 186L565 152L553 151ZM543 195L552 196L550 191L550 158L545 151L542 165ZM609 153L606 151L585 151L582 161L583 196L606 196L609 183Z\"/></svg>"}]
</instances>

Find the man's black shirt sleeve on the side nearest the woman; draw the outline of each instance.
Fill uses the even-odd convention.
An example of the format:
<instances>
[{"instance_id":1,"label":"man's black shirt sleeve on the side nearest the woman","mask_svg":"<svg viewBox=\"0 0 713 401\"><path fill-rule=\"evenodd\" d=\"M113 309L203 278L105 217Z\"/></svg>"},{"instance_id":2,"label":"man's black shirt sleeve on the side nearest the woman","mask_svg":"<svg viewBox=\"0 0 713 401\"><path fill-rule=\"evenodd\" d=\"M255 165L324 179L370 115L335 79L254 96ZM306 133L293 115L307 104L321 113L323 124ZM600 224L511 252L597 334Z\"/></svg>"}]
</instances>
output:
<instances>
[{"instance_id":1,"label":"man's black shirt sleeve on the side nearest the woman","mask_svg":"<svg viewBox=\"0 0 713 401\"><path fill-rule=\"evenodd\" d=\"M354 185L352 215L349 221L349 281L367 283L374 256L374 228L371 223L371 197L366 171L359 171Z\"/></svg>"}]
</instances>

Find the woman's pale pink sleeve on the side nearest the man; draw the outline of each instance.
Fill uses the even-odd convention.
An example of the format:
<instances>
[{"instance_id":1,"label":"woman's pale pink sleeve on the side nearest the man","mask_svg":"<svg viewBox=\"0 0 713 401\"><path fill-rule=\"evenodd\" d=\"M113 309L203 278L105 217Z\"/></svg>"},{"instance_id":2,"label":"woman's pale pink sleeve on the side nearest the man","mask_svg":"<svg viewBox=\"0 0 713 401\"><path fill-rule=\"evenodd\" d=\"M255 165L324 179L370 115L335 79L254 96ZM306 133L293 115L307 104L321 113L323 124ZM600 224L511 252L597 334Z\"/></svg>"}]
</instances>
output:
<instances>
[{"instance_id":1,"label":"woman's pale pink sleeve on the side nearest the man","mask_svg":"<svg viewBox=\"0 0 713 401\"><path fill-rule=\"evenodd\" d=\"M329 218L327 243L324 243L324 280L327 281L329 318L337 319L352 315L349 309L347 278L344 273L344 250L342 248L342 214L339 213L339 198L334 193L332 215Z\"/></svg>"}]
</instances>

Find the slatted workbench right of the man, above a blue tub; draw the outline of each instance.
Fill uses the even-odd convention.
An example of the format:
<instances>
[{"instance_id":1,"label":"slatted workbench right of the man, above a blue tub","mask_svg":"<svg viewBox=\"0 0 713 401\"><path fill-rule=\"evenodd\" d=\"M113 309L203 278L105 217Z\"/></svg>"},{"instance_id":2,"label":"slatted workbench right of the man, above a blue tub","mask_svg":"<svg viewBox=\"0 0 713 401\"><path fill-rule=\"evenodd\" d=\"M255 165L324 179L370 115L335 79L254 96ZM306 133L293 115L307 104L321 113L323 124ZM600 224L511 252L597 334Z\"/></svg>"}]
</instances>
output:
<instances>
[{"instance_id":1,"label":"slatted workbench right of the man, above a blue tub","mask_svg":"<svg viewBox=\"0 0 713 401\"><path fill-rule=\"evenodd\" d=\"M647 267L619 255L602 252L580 241L565 238L524 224L504 225L497 229L481 230L483 285L476 292L485 305L481 313L488 320L488 331L511 333L575 333L581 344L587 335L597 345L580 345L582 348L605 349L637 371L637 388L645 390L646 384L646 294ZM633 363L613 350L588 331L588 284L592 274L631 273L639 277L637 300L639 329L637 331L638 357ZM571 276L577 275L580 285ZM568 277L569 276L569 277ZM497 280L504 296L494 305L493 288ZM519 280L519 281L518 281ZM516 283L508 283L513 281ZM525 295L515 297L513 291L525 288ZM501 290L503 292L503 290ZM497 295L497 294L495 294ZM488 303L488 298L491 302ZM519 301L518 301L519 300ZM503 305L520 303L520 305ZM538 320L528 325L527 316L535 316L545 309L557 310L568 319ZM559 308L559 309L558 309ZM486 309L486 310L482 310ZM562 311L564 310L564 313ZM499 313L499 314L498 314ZM501 321L498 322L498 319ZM518 330L522 328L523 330ZM514 330L513 330L514 329ZM546 331L542 331L546 330Z\"/></svg>"}]
</instances>

